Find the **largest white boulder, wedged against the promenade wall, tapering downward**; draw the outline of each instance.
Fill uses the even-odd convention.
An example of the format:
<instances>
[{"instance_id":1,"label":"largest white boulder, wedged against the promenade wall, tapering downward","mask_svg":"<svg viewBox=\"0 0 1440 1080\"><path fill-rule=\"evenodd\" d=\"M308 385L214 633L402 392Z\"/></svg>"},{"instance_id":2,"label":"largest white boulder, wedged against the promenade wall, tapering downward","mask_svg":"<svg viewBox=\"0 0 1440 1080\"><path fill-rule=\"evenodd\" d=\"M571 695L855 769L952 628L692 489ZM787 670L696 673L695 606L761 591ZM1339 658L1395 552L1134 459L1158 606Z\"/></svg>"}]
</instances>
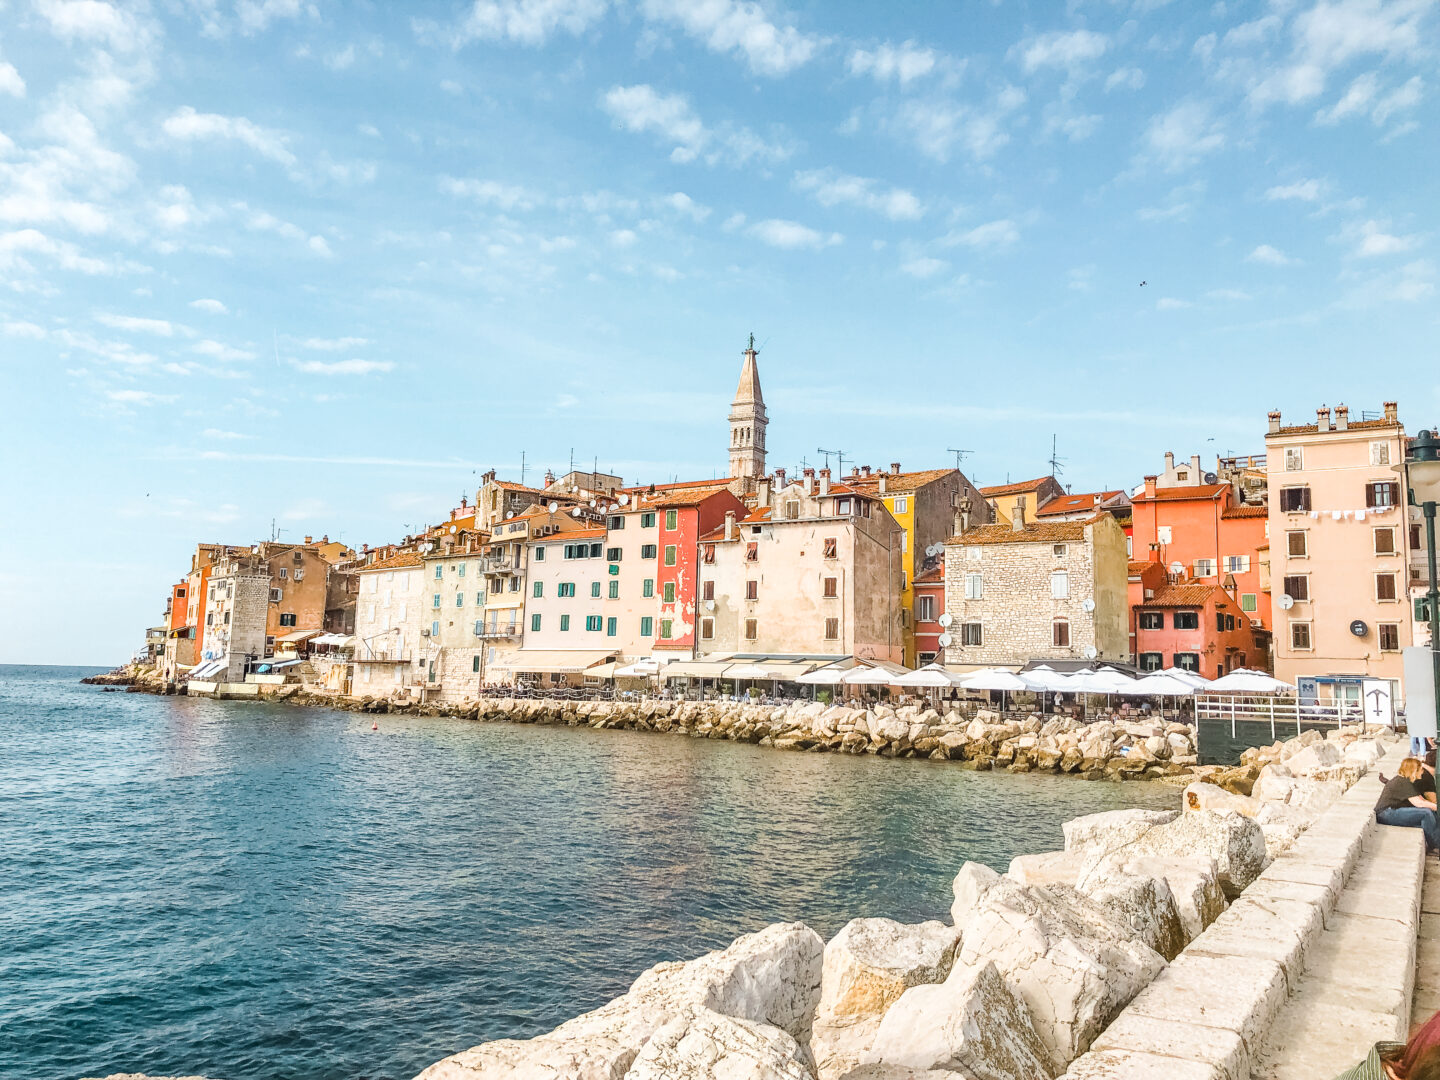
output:
<instances>
[{"instance_id":1,"label":"largest white boulder, wedged against the promenade wall, tapering downward","mask_svg":"<svg viewBox=\"0 0 1440 1080\"><path fill-rule=\"evenodd\" d=\"M995 965L1057 1073L1165 968L1129 926L1064 886L1021 886L966 863L952 910L962 929L956 966Z\"/></svg>"}]
</instances>

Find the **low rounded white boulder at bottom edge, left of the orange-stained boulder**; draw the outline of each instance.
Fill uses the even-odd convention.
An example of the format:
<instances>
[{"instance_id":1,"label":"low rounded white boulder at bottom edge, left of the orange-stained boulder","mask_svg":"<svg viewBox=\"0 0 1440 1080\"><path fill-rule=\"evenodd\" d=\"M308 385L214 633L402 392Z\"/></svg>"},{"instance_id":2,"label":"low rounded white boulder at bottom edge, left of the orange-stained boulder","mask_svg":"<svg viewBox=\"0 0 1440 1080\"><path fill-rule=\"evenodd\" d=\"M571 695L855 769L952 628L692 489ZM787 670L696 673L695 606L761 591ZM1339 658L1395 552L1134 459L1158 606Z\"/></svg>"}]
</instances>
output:
<instances>
[{"instance_id":1,"label":"low rounded white boulder at bottom edge, left of the orange-stained boulder","mask_svg":"<svg viewBox=\"0 0 1440 1080\"><path fill-rule=\"evenodd\" d=\"M651 1037L625 1080L811 1080L811 1071L779 1028L694 1005Z\"/></svg>"}]
</instances>

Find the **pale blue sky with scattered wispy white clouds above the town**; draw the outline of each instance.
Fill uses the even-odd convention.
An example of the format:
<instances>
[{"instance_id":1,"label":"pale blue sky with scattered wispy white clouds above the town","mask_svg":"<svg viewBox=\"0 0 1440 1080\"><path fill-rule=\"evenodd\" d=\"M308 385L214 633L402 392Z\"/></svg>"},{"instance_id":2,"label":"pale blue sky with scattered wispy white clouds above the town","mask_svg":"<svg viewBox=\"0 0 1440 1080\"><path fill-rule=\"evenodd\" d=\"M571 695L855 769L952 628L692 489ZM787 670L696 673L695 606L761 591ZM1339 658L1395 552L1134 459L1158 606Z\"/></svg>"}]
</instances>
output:
<instances>
[{"instance_id":1,"label":"pale blue sky with scattered wispy white clouds above the town","mask_svg":"<svg viewBox=\"0 0 1440 1080\"><path fill-rule=\"evenodd\" d=\"M1434 0L0 0L0 661L477 472L1436 420ZM1140 281L1148 282L1143 288Z\"/></svg>"}]
</instances>

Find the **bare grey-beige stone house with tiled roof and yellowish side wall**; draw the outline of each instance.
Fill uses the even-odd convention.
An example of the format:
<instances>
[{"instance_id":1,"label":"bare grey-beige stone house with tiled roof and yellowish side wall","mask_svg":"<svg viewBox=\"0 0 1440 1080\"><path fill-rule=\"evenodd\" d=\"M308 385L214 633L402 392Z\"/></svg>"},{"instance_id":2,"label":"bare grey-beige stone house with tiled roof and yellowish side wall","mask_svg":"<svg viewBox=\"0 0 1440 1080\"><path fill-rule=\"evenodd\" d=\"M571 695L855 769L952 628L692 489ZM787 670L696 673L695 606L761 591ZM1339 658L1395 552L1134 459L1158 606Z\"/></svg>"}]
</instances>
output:
<instances>
[{"instance_id":1,"label":"bare grey-beige stone house with tiled roof and yellowish side wall","mask_svg":"<svg viewBox=\"0 0 1440 1080\"><path fill-rule=\"evenodd\" d=\"M1018 503L1009 518L946 541L946 664L1128 661L1128 562L1115 518L1028 523Z\"/></svg>"}]
</instances>

